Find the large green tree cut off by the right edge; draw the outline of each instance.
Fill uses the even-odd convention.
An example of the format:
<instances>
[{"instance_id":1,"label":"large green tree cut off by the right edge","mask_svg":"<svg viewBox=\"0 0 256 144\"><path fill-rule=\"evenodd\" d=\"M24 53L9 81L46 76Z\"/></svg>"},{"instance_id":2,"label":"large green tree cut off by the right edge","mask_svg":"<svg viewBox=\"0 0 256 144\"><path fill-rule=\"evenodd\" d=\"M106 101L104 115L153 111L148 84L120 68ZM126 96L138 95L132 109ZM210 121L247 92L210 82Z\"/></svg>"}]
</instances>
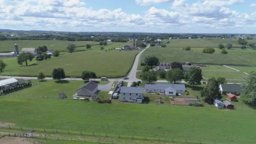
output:
<instances>
[{"instance_id":1,"label":"large green tree cut off by the right edge","mask_svg":"<svg viewBox=\"0 0 256 144\"><path fill-rule=\"evenodd\" d=\"M241 97L246 104L256 106L256 72L251 72L246 79Z\"/></svg>"}]
</instances>

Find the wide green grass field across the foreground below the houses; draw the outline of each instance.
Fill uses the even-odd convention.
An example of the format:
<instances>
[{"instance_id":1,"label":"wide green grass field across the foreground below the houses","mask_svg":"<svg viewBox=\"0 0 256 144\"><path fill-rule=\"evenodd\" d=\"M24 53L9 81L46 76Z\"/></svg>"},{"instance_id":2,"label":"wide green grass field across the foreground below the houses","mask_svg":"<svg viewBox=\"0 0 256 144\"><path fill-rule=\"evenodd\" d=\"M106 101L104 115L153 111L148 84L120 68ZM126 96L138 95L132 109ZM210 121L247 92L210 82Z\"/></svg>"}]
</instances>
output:
<instances>
[{"instance_id":1,"label":"wide green grass field across the foreground below the houses","mask_svg":"<svg viewBox=\"0 0 256 144\"><path fill-rule=\"evenodd\" d=\"M239 101L241 101L239 99ZM256 111L167 104L98 104L90 101L0 97L0 122L12 128L211 143L255 143ZM232 133L232 134L230 134Z\"/></svg>"}]
</instances>

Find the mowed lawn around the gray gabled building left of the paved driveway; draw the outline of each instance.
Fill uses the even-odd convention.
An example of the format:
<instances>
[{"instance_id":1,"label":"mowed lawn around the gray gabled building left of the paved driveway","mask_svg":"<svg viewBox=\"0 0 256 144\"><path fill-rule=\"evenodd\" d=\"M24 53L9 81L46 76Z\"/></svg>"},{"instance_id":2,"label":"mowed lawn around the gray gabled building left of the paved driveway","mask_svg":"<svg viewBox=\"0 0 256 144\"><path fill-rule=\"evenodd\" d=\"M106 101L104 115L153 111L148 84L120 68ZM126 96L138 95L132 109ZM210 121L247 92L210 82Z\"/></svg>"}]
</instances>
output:
<instances>
[{"instance_id":1,"label":"mowed lawn around the gray gabled building left of the paved driveway","mask_svg":"<svg viewBox=\"0 0 256 144\"><path fill-rule=\"evenodd\" d=\"M35 83L36 81L33 81ZM95 81L99 85L105 85L109 82ZM40 83L39 85L26 88L24 90L10 93L10 96L48 96L58 98L59 93L67 93L67 97L72 97L76 93L76 90L85 84L82 80L48 80L47 82Z\"/></svg>"}]
</instances>

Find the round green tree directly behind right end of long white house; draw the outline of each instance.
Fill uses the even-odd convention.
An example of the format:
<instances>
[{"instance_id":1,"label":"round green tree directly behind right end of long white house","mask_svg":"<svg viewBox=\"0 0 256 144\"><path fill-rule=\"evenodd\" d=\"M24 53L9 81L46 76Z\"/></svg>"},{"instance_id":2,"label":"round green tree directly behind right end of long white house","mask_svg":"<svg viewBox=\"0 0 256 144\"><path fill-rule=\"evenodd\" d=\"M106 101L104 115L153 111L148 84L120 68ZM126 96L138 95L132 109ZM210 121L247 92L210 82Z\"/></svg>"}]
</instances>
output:
<instances>
[{"instance_id":1,"label":"round green tree directly behind right end of long white house","mask_svg":"<svg viewBox=\"0 0 256 144\"><path fill-rule=\"evenodd\" d=\"M183 70L176 68L166 73L166 80L170 83L179 83L183 78Z\"/></svg>"}]
</instances>

